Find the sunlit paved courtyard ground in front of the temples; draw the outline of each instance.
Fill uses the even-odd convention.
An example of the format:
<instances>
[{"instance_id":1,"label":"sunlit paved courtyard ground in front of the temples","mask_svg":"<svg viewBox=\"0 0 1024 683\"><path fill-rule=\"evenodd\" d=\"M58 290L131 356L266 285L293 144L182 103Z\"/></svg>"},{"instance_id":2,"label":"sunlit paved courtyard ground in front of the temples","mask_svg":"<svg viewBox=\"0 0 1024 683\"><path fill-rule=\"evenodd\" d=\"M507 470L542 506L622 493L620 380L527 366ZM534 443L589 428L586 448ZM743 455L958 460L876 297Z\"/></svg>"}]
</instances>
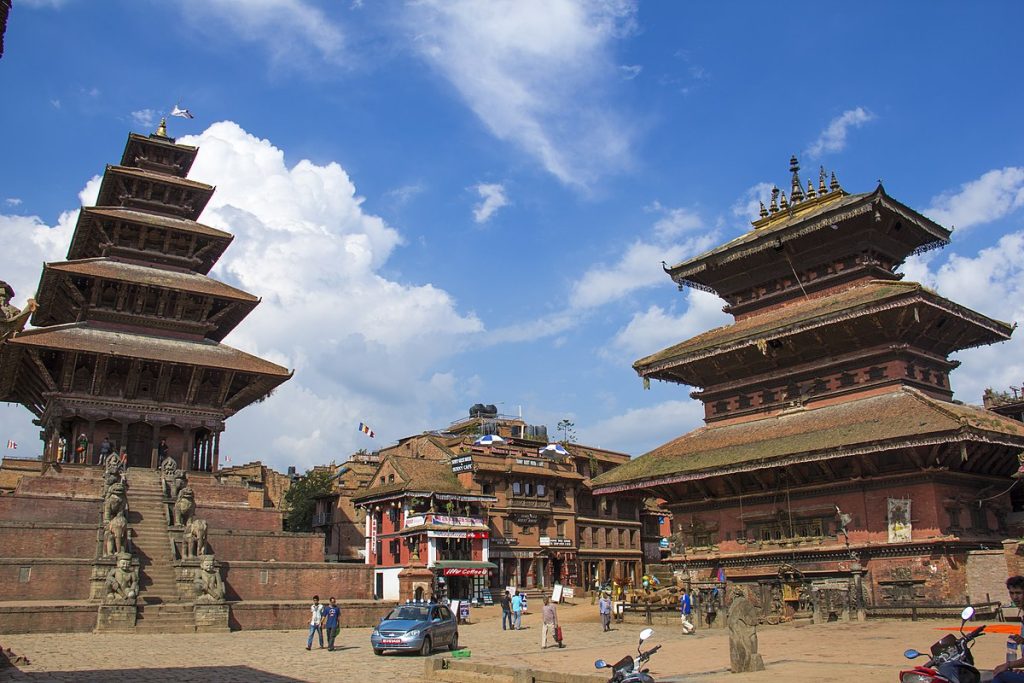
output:
<instances>
[{"instance_id":1,"label":"sunlit paved courtyard ground in front of the temples","mask_svg":"<svg viewBox=\"0 0 1024 683\"><path fill-rule=\"evenodd\" d=\"M587 602L562 605L559 616L566 648L540 649L540 615L523 618L523 631L503 632L496 607L472 611L472 623L460 627L460 640L471 650L468 661L594 676L599 657L616 660L636 652L641 624L616 624L601 633L596 609ZM767 670L732 675L728 671L725 630L698 631L684 637L673 623L654 625L649 646L664 647L651 659L658 681L732 681L755 683L783 680L837 683L895 680L905 664L903 650L927 650L952 621L836 623L762 627L758 636ZM1008 625L1000 625L1006 629ZM27 634L0 637L0 644L31 664L0 670L0 680L13 681L337 681L424 680L425 661L415 655L375 656L370 629L345 629L340 649L305 650L305 631L244 631L224 634L118 635ZM980 666L1004 656L1006 637L980 638L974 649ZM438 652L435 657L445 656ZM369 674L369 676L368 676ZM446 679L447 680L447 679ZM455 680L454 678L451 680ZM469 679L460 679L469 680ZM478 680L498 681L497 678ZM549 679L550 680L550 679Z\"/></svg>"}]
</instances>

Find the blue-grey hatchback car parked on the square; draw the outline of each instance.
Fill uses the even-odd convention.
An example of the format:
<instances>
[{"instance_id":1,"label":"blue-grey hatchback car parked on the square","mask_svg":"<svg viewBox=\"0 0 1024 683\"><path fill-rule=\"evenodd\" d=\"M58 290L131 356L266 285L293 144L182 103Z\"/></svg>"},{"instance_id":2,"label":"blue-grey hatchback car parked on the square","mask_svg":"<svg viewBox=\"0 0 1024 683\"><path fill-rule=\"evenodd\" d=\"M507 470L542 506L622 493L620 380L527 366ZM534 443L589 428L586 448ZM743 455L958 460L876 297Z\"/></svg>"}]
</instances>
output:
<instances>
[{"instance_id":1,"label":"blue-grey hatchback car parked on the square","mask_svg":"<svg viewBox=\"0 0 1024 683\"><path fill-rule=\"evenodd\" d=\"M445 605L434 602L407 602L381 620L370 634L374 654L384 650L411 650L427 655L446 645L459 649L459 625Z\"/></svg>"}]
</instances>

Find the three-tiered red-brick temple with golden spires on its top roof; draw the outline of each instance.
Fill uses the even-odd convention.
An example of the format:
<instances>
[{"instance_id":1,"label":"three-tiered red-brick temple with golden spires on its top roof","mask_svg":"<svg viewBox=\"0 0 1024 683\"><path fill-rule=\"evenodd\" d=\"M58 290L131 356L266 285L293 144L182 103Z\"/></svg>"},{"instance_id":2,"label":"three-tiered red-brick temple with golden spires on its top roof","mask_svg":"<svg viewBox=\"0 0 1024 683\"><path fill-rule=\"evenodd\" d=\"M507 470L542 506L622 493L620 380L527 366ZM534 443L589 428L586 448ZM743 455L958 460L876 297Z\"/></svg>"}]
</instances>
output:
<instances>
[{"instance_id":1,"label":"three-tiered red-brick temple with golden spires on its top roof","mask_svg":"<svg viewBox=\"0 0 1024 683\"><path fill-rule=\"evenodd\" d=\"M805 188L796 158L791 172L753 230L667 268L735 321L634 364L697 387L706 425L594 493L664 498L674 568L750 584L769 618L997 598L1024 425L953 401L949 355L1013 328L902 282L947 229L881 184L850 195L822 169Z\"/></svg>"}]
</instances>

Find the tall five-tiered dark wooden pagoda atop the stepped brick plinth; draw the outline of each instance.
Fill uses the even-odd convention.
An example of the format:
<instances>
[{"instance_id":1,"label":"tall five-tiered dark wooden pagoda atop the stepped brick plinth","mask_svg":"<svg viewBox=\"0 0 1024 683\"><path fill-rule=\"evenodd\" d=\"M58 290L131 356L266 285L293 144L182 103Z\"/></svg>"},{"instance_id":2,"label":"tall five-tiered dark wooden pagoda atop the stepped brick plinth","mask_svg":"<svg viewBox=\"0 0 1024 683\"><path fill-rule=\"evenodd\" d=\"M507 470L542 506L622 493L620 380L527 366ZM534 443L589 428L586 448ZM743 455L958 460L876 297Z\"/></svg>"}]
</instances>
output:
<instances>
[{"instance_id":1,"label":"tall five-tiered dark wooden pagoda atop the stepped brick plinth","mask_svg":"<svg viewBox=\"0 0 1024 683\"><path fill-rule=\"evenodd\" d=\"M232 238L197 222L214 191L185 177L197 152L163 122L130 134L68 260L43 267L36 329L0 347L0 399L36 416L44 460L95 463L102 445L215 471L225 419L291 377L220 343L259 300L206 274Z\"/></svg>"}]
</instances>

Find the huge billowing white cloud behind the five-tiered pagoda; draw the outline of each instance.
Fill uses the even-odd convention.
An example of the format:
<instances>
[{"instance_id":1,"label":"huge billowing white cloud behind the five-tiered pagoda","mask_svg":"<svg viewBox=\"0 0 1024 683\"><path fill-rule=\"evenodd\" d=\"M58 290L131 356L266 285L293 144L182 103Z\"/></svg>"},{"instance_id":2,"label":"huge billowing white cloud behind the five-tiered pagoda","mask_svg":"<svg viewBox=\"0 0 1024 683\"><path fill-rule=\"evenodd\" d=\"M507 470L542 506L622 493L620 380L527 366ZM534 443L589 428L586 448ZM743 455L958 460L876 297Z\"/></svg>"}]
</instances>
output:
<instances>
[{"instance_id":1,"label":"huge billowing white cloud behind the five-tiered pagoda","mask_svg":"<svg viewBox=\"0 0 1024 683\"><path fill-rule=\"evenodd\" d=\"M226 343L295 370L230 419L222 454L308 467L435 426L467 400L467 384L443 366L482 323L442 290L380 274L400 236L364 211L344 169L288 166L281 150L230 122L179 141L200 147L189 177L217 185L203 222L236 236L214 275L262 298ZM87 183L82 204L98 183ZM4 273L17 299L34 291L44 260L63 257L76 218L69 211L51 227L0 215L0 240L19 255ZM24 409L0 413L0 427L19 433L11 420L30 422ZM356 431L360 421L374 425L375 442Z\"/></svg>"}]
</instances>

